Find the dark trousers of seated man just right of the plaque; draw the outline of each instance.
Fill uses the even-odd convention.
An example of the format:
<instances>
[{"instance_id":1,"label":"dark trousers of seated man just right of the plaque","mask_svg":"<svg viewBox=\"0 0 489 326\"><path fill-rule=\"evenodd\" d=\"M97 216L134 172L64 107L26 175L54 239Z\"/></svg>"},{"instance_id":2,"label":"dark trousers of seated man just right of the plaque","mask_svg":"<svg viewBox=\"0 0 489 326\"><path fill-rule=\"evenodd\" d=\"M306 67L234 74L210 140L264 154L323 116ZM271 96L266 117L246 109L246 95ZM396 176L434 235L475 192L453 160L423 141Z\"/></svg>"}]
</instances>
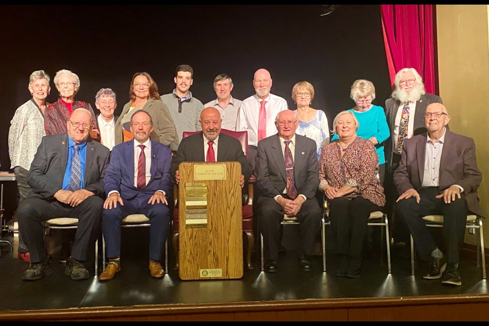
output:
<instances>
[{"instance_id":1,"label":"dark trousers of seated man just right of the plaque","mask_svg":"<svg viewBox=\"0 0 489 326\"><path fill-rule=\"evenodd\" d=\"M263 234L263 256L265 262L277 260L280 244L280 223L284 220L284 210L271 197L259 197L257 201L259 224ZM316 198L307 199L297 213L300 225L301 247L299 255L314 255L316 236L321 226L321 208Z\"/></svg>"}]
</instances>

